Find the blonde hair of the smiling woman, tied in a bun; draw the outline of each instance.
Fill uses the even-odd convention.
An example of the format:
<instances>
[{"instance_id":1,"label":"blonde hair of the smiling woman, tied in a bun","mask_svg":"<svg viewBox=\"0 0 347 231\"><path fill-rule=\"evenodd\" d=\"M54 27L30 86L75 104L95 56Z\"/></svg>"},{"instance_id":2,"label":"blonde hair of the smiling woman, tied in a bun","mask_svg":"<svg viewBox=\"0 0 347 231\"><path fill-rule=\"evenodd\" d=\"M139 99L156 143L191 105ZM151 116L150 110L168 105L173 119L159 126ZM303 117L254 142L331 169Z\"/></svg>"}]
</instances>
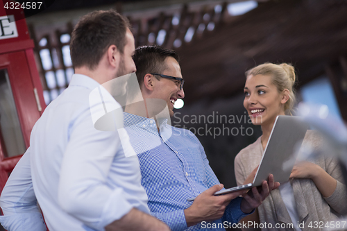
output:
<instances>
[{"instance_id":1,"label":"blonde hair of the smiling woman, tied in a bun","mask_svg":"<svg viewBox=\"0 0 347 231\"><path fill-rule=\"evenodd\" d=\"M253 67L246 71L246 78L250 75L257 76L271 76L272 83L278 89L279 93L282 93L284 89L288 89L289 91L289 99L285 103L285 114L291 114L291 110L293 109L296 97L293 89L296 75L294 67L287 63L282 63L280 65L276 65L270 62L266 62L262 65L258 65L257 67Z\"/></svg>"}]
</instances>

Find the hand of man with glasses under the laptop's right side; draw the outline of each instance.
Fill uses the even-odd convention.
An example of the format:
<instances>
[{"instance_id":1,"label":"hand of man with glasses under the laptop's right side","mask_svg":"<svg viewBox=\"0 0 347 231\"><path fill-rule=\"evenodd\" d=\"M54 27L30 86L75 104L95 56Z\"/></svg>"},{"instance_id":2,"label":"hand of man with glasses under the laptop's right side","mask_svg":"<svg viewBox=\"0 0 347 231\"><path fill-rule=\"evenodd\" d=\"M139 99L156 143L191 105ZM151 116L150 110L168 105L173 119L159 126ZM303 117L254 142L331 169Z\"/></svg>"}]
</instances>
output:
<instances>
[{"instance_id":1,"label":"hand of man with glasses under the laptop's right side","mask_svg":"<svg viewBox=\"0 0 347 231\"><path fill-rule=\"evenodd\" d=\"M280 186L279 182L273 180L273 175L269 176L269 184L264 180L262 182L262 187L257 189L253 187L248 193L242 194L244 200L241 202L241 210L245 214L249 214L253 209L262 204L263 200L269 196L270 191L277 189Z\"/></svg>"}]
</instances>

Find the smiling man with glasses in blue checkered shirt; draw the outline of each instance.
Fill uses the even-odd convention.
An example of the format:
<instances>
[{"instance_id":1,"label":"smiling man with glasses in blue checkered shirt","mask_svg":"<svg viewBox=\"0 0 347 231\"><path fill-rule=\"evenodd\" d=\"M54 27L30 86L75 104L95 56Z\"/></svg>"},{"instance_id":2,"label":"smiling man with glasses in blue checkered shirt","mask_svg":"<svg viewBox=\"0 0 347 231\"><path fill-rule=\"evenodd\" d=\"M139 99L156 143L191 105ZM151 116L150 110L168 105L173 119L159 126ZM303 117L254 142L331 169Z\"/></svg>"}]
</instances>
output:
<instances>
[{"instance_id":1,"label":"smiling man with glasses in blue checkered shirt","mask_svg":"<svg viewBox=\"0 0 347 231\"><path fill-rule=\"evenodd\" d=\"M139 158L141 183L152 216L167 223L171 230L224 230L224 221L237 223L251 213L275 184L271 177L269 185L263 182L259 192L253 188L249 194L237 191L213 195L223 185L210 168L203 146L192 132L169 124L174 103L185 96L178 60L176 51L160 46L135 50L144 105L126 105L124 126ZM187 201L195 196L194 202Z\"/></svg>"}]
</instances>

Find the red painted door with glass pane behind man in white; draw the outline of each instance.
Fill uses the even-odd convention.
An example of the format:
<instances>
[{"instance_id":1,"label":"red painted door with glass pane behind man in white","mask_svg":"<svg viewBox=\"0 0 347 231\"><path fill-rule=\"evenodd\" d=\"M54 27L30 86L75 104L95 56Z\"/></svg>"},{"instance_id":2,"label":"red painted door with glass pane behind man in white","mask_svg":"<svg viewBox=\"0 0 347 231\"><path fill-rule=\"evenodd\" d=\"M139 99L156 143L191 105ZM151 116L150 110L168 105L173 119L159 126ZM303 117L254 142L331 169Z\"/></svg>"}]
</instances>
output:
<instances>
[{"instance_id":1,"label":"red painted door with glass pane behind man in white","mask_svg":"<svg viewBox=\"0 0 347 231\"><path fill-rule=\"evenodd\" d=\"M0 193L29 146L40 107L26 51L0 54Z\"/></svg>"}]
</instances>

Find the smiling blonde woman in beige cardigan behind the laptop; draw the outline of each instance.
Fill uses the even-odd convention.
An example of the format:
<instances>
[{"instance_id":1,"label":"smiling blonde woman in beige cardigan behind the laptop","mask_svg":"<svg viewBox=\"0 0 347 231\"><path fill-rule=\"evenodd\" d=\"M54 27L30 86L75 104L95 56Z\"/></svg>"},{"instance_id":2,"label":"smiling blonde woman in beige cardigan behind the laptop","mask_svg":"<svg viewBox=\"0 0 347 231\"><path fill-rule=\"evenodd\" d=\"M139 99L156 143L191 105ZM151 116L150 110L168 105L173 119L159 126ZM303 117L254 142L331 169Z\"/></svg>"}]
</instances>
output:
<instances>
[{"instance_id":1,"label":"smiling blonde woman in beige cardigan behind the laptop","mask_svg":"<svg viewBox=\"0 0 347 231\"><path fill-rule=\"evenodd\" d=\"M295 79L294 67L285 63L265 63L246 71L244 108L252 123L262 126L262 136L235 157L237 185L253 181L276 117L291 114ZM308 130L303 145L319 148L321 142L319 134ZM244 221L257 222L260 225L254 228L261 230L323 230L347 212L347 190L336 160L319 157L298 163L290 178Z\"/></svg>"}]
</instances>

